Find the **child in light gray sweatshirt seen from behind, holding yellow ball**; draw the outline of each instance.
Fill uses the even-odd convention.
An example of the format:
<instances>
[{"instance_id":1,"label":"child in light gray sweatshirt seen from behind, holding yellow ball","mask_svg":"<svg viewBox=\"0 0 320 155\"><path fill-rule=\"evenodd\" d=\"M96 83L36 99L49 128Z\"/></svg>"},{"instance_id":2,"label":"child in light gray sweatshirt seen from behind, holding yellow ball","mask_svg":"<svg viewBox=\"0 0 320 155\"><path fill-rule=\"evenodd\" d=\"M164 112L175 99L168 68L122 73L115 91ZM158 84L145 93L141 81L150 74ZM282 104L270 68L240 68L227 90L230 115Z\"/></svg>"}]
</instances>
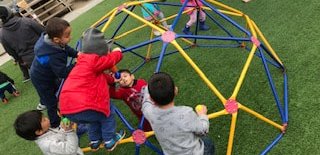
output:
<instances>
[{"instance_id":1,"label":"child in light gray sweatshirt seen from behind, holding yellow ball","mask_svg":"<svg viewBox=\"0 0 320 155\"><path fill-rule=\"evenodd\" d=\"M150 92L150 94L149 94ZM150 121L164 154L214 154L213 142L203 135L209 132L207 108L195 113L191 107L175 106L178 89L169 74L151 76L143 89L142 112Z\"/></svg>"}]
</instances>

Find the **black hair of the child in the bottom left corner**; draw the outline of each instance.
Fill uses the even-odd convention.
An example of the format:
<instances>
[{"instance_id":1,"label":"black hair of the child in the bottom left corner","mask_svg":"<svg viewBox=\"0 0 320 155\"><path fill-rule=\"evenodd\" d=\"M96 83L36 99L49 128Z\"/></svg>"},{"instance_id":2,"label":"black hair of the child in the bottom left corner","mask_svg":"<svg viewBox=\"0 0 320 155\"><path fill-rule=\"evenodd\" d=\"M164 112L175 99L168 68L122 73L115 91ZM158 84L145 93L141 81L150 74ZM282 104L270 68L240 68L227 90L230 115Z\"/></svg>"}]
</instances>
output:
<instances>
[{"instance_id":1,"label":"black hair of the child in the bottom left corner","mask_svg":"<svg viewBox=\"0 0 320 155\"><path fill-rule=\"evenodd\" d=\"M31 110L20 114L14 122L17 135L26 140L36 140L36 131L41 130L42 113L38 110Z\"/></svg>"}]
</instances>

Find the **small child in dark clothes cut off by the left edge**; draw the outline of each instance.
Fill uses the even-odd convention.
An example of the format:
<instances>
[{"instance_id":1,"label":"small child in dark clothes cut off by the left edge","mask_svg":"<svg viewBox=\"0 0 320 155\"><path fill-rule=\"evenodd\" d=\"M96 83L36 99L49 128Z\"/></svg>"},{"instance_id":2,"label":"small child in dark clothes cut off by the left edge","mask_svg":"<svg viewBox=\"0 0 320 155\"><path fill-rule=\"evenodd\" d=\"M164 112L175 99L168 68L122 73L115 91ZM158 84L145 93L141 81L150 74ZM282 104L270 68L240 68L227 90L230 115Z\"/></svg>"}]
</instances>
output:
<instances>
[{"instance_id":1,"label":"small child in dark clothes cut off by the left edge","mask_svg":"<svg viewBox=\"0 0 320 155\"><path fill-rule=\"evenodd\" d=\"M8 91L15 97L19 96L19 92L14 87L14 81L0 71L0 97L4 104L8 103L8 99L4 94L5 91Z\"/></svg>"}]
</instances>

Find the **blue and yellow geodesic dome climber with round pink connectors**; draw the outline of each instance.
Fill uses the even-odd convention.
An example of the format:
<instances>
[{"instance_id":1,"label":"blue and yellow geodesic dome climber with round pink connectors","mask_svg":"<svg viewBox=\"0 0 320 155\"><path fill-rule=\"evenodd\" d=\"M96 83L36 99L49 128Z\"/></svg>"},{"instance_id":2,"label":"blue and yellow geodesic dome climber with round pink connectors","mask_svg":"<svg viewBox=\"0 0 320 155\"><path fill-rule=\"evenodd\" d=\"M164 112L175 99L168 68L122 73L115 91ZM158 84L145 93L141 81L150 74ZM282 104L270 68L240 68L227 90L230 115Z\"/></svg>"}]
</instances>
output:
<instances>
[{"instance_id":1,"label":"blue and yellow geodesic dome climber with round pink connectors","mask_svg":"<svg viewBox=\"0 0 320 155\"><path fill-rule=\"evenodd\" d=\"M203 3L203 6L198 5L185 10L185 8L188 7L187 2L188 0L183 4L171 1L162 2L159 0L129 1L109 11L105 16L94 23L92 27L101 28L101 31L105 32L106 36L111 36L114 40L114 44L121 47L124 53L136 57L136 60L133 60L135 63L135 68L132 69L133 72L138 71L141 67L147 65L148 62L151 61L156 61L155 72L158 72L161 70L161 65L167 56L179 53L198 74L198 77L202 79L211 91L211 94L217 97L222 104L222 109L216 112L208 112L209 118L214 119L224 115L231 116L226 154L229 155L232 153L235 129L238 121L237 118L238 115L243 112L248 113L250 116L279 130L279 134L261 152L261 154L266 154L283 137L288 123L288 87L286 69L283 63L255 22L246 14L214 0L199 0L199 2ZM170 8L166 9L167 17L162 20L172 21L171 27L163 27L160 24L162 20L159 20L156 17L150 22L142 18L140 16L140 9L145 9L142 5L144 3L157 4L160 5L162 9ZM210 27L214 27L212 28L214 29L213 31L198 31L198 24L196 24L194 26L193 35L181 33L181 29L178 27L184 26L184 24L178 23L184 23L181 21L185 18L183 16L193 9L198 11L202 9L206 13L207 23ZM199 23L199 21L197 23ZM238 23L242 23L244 26ZM152 29L159 31L161 36L154 36ZM229 97L222 94L216 85L209 80L209 75L203 72L186 52L189 49L196 48L236 49L239 51L246 51L242 53L245 57L244 64L240 69L241 72L239 77L236 78L234 89L231 91ZM197 51L197 53L201 52ZM273 97L271 97L273 98L273 101L270 102L275 103L274 105L279 112L279 118L277 118L278 122L269 119L246 106L246 104L249 104L250 102L260 101L244 103L248 101L244 100L244 102L242 102L237 98L245 78L248 76L249 67L253 66L254 60L257 61L254 62L254 65L260 65L265 73L265 79L268 81L268 88L272 92L270 94L273 95ZM227 63L232 64L232 62ZM130 65L132 66L133 64ZM279 73L274 72L274 70L280 70L282 72L281 80L274 80L274 74ZM277 83L279 81L281 83L280 85ZM121 143L135 143L136 154L139 154L141 145L146 145L156 153L162 154L160 149L148 141L148 137L154 135L154 133L143 132L141 130L143 120L139 123L138 129L135 129L116 107L113 108L131 132L131 136L122 140ZM83 150L85 152L90 151L90 148L84 148Z\"/></svg>"}]
</instances>

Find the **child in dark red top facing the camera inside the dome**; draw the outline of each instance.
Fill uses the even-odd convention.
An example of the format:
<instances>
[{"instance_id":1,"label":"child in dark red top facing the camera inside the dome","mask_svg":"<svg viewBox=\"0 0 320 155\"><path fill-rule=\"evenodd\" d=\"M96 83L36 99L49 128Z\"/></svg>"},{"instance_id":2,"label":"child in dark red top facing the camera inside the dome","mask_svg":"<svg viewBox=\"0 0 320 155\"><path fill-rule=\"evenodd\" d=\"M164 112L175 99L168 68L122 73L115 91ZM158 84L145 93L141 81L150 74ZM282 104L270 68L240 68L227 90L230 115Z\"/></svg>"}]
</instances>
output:
<instances>
[{"instance_id":1,"label":"child in dark red top facing the camera inside the dome","mask_svg":"<svg viewBox=\"0 0 320 155\"><path fill-rule=\"evenodd\" d=\"M110 86L110 96L114 99L123 100L131 109L131 111L138 117L139 122L142 118L141 106L142 106L142 87L147 85L147 82L143 79L135 79L134 75L127 69L118 71L121 75L120 79L115 79L115 82L119 83L119 88L115 85ZM148 120L144 120L144 131L152 131Z\"/></svg>"}]
</instances>

